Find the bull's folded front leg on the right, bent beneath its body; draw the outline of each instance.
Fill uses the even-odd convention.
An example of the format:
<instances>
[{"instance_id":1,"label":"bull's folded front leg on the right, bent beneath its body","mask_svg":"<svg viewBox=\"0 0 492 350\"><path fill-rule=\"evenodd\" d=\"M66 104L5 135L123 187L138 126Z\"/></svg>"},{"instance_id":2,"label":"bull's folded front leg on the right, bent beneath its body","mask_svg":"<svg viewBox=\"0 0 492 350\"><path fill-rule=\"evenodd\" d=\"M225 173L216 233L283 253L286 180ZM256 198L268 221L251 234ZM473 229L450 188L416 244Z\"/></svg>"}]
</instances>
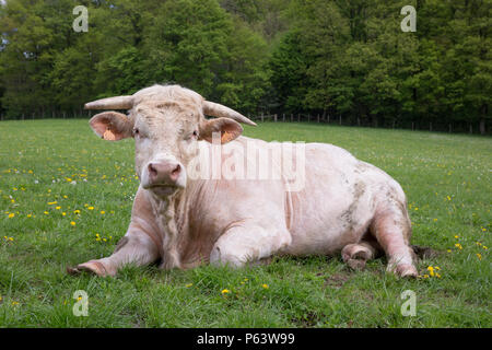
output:
<instances>
[{"instance_id":1,"label":"bull's folded front leg on the right, bent beneath its body","mask_svg":"<svg viewBox=\"0 0 492 350\"><path fill-rule=\"evenodd\" d=\"M242 267L268 258L292 242L289 231L242 224L229 229L215 243L210 264Z\"/></svg>"}]
</instances>

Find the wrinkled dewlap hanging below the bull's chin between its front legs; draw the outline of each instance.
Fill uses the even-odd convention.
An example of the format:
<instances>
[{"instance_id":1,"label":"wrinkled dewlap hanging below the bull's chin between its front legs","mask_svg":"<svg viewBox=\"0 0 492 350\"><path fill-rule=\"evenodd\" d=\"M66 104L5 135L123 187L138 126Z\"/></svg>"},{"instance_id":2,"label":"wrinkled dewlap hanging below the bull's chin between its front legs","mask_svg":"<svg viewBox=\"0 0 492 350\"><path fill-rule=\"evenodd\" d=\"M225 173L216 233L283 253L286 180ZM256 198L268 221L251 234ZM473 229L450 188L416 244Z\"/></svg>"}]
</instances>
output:
<instances>
[{"instance_id":1,"label":"wrinkled dewlap hanging below the bull's chin between its front legs","mask_svg":"<svg viewBox=\"0 0 492 350\"><path fill-rule=\"evenodd\" d=\"M151 194L151 203L157 224L163 231L162 268L181 268L178 243L185 234L186 215L180 210L185 202L186 188L178 189L173 195L160 198Z\"/></svg>"}]
</instances>

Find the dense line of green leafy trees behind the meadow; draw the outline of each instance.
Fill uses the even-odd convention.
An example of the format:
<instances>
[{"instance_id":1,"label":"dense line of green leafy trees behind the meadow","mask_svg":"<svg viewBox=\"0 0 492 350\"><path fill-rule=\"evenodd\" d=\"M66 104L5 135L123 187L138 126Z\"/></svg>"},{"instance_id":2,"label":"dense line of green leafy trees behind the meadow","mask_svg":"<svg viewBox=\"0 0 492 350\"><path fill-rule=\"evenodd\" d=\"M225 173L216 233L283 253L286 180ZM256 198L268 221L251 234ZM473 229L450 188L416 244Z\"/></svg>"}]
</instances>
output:
<instances>
[{"instance_id":1,"label":"dense line of green leafy trees behind the meadow","mask_svg":"<svg viewBox=\"0 0 492 350\"><path fill-rule=\"evenodd\" d=\"M491 14L492 0L7 0L0 114L81 116L178 83L250 116L487 133Z\"/></svg>"}]
</instances>

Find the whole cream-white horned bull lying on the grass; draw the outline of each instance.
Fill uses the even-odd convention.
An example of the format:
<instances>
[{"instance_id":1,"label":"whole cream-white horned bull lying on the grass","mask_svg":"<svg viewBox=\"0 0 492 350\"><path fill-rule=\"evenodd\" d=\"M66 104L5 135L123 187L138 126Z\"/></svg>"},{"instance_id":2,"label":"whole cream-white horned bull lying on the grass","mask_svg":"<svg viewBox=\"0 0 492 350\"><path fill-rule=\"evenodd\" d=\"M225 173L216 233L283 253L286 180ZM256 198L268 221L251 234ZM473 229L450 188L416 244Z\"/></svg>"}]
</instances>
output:
<instances>
[{"instance_id":1,"label":"whole cream-white horned bull lying on the grass","mask_svg":"<svg viewBox=\"0 0 492 350\"><path fill-rule=\"evenodd\" d=\"M400 185L345 150L295 144L292 150L302 147L303 152L289 154L297 167L304 165L302 186L295 190L276 163L280 176L192 178L198 159L199 167L211 165L207 162L213 160L199 153L213 154L214 136L222 143L219 163L229 162L231 168L251 163L243 151L246 145L261 151L271 143L242 137L237 121L255 125L251 120L178 85L154 85L131 96L87 103L85 108L129 109L128 116L97 114L90 125L105 140L134 138L140 187L128 231L113 255L69 272L114 276L126 264L159 260L166 269L202 262L241 267L273 255L339 252L355 267L384 250L388 271L418 275ZM204 115L218 118L208 120ZM260 160L258 167L263 163Z\"/></svg>"}]
</instances>

